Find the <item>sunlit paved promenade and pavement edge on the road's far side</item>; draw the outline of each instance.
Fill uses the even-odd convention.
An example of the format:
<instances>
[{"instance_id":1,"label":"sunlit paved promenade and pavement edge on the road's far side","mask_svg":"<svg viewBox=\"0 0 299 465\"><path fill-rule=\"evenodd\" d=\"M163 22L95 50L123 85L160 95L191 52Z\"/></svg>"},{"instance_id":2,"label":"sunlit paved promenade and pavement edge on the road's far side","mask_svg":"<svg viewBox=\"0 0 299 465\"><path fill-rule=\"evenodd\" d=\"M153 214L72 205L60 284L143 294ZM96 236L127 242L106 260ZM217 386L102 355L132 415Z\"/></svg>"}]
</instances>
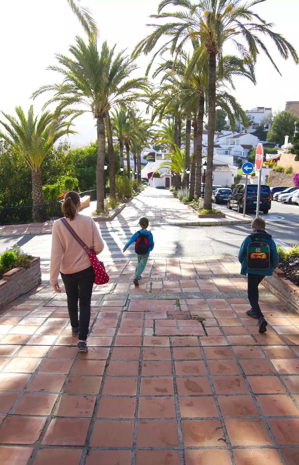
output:
<instances>
[{"instance_id":1,"label":"sunlit paved promenade and pavement edge on the road's far side","mask_svg":"<svg viewBox=\"0 0 299 465\"><path fill-rule=\"evenodd\" d=\"M95 202L94 202L95 204ZM93 207L86 212L94 210ZM84 214L84 210L81 212ZM252 218L245 219L239 213L228 210L226 218L208 219L197 218L188 207L179 202L171 192L165 190L163 193L149 187L137 197L128 202L115 219L98 223L99 229L121 226L137 226L139 218L146 216L150 220L150 226L174 225L174 226L221 226L232 224L251 223ZM44 223L31 223L29 225L0 226L0 237L23 236L28 234L51 234L53 220Z\"/></svg>"}]
</instances>

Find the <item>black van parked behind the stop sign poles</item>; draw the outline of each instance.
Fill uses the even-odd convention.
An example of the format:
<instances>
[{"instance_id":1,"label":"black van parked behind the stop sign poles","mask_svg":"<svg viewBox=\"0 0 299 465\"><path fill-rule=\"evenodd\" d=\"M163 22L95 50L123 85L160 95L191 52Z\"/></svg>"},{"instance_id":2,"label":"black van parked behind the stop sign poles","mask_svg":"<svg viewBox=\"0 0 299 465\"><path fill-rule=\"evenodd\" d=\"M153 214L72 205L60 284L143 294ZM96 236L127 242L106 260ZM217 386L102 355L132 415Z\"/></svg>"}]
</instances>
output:
<instances>
[{"instance_id":1,"label":"black van parked behind the stop sign poles","mask_svg":"<svg viewBox=\"0 0 299 465\"><path fill-rule=\"evenodd\" d=\"M231 210L236 208L237 212L243 213L244 208L244 184L237 184L234 186L233 192L228 197L227 208ZM246 196L246 210L256 210L256 202L258 195L258 186L256 184L247 185L247 196ZM260 186L260 210L267 215L271 208L272 195L270 192L270 186L262 184Z\"/></svg>"}]
</instances>

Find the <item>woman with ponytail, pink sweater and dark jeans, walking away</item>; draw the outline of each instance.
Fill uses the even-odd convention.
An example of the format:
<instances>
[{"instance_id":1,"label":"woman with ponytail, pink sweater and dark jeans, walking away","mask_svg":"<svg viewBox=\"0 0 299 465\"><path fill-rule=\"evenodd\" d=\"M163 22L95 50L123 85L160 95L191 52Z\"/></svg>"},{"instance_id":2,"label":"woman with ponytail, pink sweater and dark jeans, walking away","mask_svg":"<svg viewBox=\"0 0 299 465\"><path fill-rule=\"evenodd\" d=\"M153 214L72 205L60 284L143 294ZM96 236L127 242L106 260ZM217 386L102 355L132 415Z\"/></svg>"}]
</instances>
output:
<instances>
[{"instance_id":1,"label":"woman with ponytail, pink sweater and dark jeans, walking away","mask_svg":"<svg viewBox=\"0 0 299 465\"><path fill-rule=\"evenodd\" d=\"M104 249L103 240L93 219L90 216L79 215L79 209L78 193L67 192L62 204L65 219L86 246L98 254ZM95 273L88 254L72 236L62 219L54 221L52 229L50 283L56 292L61 292L58 285L59 271L65 285L71 334L78 336L78 352L88 352L86 339L91 318L91 293Z\"/></svg>"}]
</instances>

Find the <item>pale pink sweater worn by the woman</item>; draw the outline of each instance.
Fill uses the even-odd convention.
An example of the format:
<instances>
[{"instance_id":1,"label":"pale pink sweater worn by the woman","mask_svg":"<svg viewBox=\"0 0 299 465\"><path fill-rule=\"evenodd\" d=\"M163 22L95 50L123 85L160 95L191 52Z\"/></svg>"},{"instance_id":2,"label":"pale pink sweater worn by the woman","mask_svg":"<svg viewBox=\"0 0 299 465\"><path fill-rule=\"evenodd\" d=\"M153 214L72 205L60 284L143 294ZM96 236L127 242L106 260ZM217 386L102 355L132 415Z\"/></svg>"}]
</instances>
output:
<instances>
[{"instance_id":1,"label":"pale pink sweater worn by the woman","mask_svg":"<svg viewBox=\"0 0 299 465\"><path fill-rule=\"evenodd\" d=\"M85 244L96 252L102 252L104 243L97 229L96 223L90 216L79 215L73 220L67 219L73 230ZM59 272L68 274L82 271L91 266L91 261L78 244L76 239L66 229L60 219L54 221L52 229L52 249L50 262L50 283L58 282Z\"/></svg>"}]
</instances>

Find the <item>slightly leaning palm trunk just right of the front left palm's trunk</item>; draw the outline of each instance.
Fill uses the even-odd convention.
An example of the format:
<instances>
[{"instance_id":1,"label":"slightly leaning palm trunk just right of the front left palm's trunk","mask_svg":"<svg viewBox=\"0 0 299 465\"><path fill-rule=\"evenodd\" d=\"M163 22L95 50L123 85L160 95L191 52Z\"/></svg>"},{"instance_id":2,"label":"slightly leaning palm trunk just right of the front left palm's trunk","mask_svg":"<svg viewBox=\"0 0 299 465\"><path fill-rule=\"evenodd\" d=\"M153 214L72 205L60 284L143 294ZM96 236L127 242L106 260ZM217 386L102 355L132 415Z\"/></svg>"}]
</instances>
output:
<instances>
[{"instance_id":1,"label":"slightly leaning palm trunk just right of the front left palm's trunk","mask_svg":"<svg viewBox=\"0 0 299 465\"><path fill-rule=\"evenodd\" d=\"M97 117L97 212L104 210L104 163L105 163L105 126L104 119Z\"/></svg>"}]
</instances>

